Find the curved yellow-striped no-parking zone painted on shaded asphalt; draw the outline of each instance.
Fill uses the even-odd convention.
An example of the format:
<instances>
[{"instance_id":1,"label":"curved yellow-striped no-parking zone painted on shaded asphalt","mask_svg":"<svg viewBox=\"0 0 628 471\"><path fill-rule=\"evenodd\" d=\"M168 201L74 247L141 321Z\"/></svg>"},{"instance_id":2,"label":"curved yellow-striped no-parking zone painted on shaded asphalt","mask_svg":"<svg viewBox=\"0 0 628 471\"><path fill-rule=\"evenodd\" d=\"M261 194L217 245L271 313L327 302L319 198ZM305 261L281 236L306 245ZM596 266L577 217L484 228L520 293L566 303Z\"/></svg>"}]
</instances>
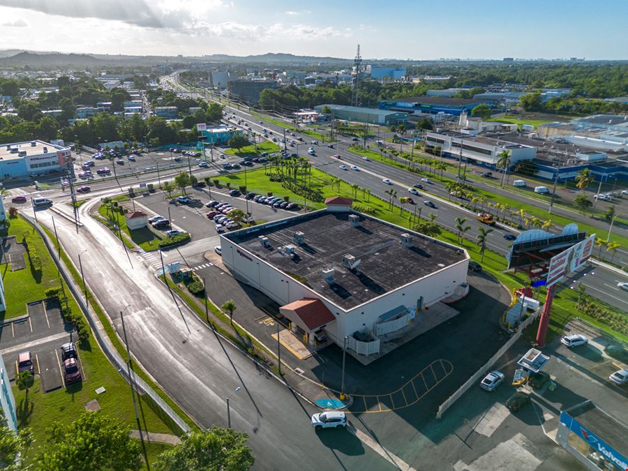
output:
<instances>
[{"instance_id":1,"label":"curved yellow-striped no-parking zone painted on shaded asphalt","mask_svg":"<svg viewBox=\"0 0 628 471\"><path fill-rule=\"evenodd\" d=\"M454 365L451 364L451 361L435 360L419 371L410 381L403 384L402 387L389 394L352 395L353 403L347 412L373 414L407 408L421 401L428 392L437 387L453 371Z\"/></svg>"}]
</instances>

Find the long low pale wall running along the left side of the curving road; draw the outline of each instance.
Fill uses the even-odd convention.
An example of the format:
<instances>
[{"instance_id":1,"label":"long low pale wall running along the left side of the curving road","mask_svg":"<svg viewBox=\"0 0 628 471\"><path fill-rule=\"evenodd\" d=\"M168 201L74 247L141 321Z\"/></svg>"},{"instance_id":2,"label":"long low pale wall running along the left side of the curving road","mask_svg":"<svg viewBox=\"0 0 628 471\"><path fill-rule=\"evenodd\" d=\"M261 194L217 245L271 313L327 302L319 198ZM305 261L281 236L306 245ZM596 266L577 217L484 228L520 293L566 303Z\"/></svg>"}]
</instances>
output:
<instances>
[{"instance_id":1,"label":"long low pale wall running along the left side of the curving road","mask_svg":"<svg viewBox=\"0 0 628 471\"><path fill-rule=\"evenodd\" d=\"M109 361L112 362L114 367L119 370L120 374L127 377L128 380L129 378L126 370L126 361L109 343L107 338L103 336L103 333L100 331L100 329L98 329L98 321L94 318L94 315L92 315L87 306L85 306L85 299L82 292L80 292L80 290L76 287L73 279L61 265L61 260L59 260L59 258L57 257L57 248L52 246L52 243L50 242L50 239L48 239L47 234L43 231L40 225L36 223L35 220L33 220L33 218L25 214L22 214L22 216L26 220L28 220L28 222L35 228L35 230L40 234L41 238L46 244L48 253L50 253L52 260L54 260L54 264L56 264L59 268L59 273L61 274L61 276L63 276L63 281L66 282L66 285L72 292L77 304L81 308L81 311L83 311L85 317L87 317L89 325L91 326L91 330L94 332L94 336L96 337L96 341L98 341L98 344L100 345L100 347L102 347L103 352L105 352L105 355L107 355L107 358L109 359ZM153 401L153 403L160 409L160 412L165 414L166 418L172 424L177 426L182 432L190 433L190 427L183 419L181 419L181 417L179 417L179 414L177 414L177 412L174 412L170 405L167 405L167 403L165 403L165 401L160 398L160 396L154 391L154 389L152 389L149 384L147 384L147 382L142 380L141 377L137 376L135 372L132 372L131 374L133 375L132 384L135 384L135 389L140 394L146 394L151 399L151 401Z\"/></svg>"}]
</instances>

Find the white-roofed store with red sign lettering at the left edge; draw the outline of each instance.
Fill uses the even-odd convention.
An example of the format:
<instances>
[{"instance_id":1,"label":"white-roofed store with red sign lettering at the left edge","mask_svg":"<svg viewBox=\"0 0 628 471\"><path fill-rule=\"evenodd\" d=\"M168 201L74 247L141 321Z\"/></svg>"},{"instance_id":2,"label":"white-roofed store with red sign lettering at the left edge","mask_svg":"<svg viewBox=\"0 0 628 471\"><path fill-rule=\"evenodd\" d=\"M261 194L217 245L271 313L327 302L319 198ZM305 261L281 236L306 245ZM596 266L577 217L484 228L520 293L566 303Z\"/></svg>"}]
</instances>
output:
<instances>
[{"instance_id":1,"label":"white-roofed store with red sign lettering at the left edge","mask_svg":"<svg viewBox=\"0 0 628 471\"><path fill-rule=\"evenodd\" d=\"M59 172L72 160L70 147L40 140L0 145L0 178Z\"/></svg>"}]
</instances>

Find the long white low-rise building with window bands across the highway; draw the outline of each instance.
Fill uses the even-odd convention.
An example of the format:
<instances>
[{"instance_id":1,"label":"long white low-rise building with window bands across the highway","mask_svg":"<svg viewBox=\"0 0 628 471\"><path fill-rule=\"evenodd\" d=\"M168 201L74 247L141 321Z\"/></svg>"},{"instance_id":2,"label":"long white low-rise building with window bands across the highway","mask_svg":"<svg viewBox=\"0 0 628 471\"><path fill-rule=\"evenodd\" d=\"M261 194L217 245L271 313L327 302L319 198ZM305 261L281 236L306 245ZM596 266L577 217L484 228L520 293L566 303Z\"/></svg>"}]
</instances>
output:
<instances>
[{"instance_id":1,"label":"long white low-rise building with window bands across the highway","mask_svg":"<svg viewBox=\"0 0 628 471\"><path fill-rule=\"evenodd\" d=\"M467 163L495 168L500 155L507 151L510 164L516 165L520 160L532 160L537 155L537 148L515 142L507 142L497 137L474 136L454 130L440 133L428 131L425 135L426 145L440 147L442 154L451 158L460 158L461 154Z\"/></svg>"}]
</instances>

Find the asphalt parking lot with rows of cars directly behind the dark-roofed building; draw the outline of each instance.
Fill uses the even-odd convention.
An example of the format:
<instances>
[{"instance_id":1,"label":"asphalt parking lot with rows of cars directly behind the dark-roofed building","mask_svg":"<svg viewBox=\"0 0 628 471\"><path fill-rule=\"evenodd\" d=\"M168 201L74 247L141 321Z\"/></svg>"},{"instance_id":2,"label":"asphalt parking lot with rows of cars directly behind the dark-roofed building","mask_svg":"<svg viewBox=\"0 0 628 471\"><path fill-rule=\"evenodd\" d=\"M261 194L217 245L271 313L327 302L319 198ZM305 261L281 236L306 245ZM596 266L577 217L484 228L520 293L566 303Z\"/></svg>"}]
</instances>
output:
<instances>
[{"instance_id":1,"label":"asphalt parking lot with rows of cars directly behind the dark-roofed building","mask_svg":"<svg viewBox=\"0 0 628 471\"><path fill-rule=\"evenodd\" d=\"M274 210L267 205L246 200L243 196L232 197L227 192L227 188L188 188L186 193L192 201L186 204L178 202L177 198L165 198L163 193L137 197L135 202L149 210L149 218L154 215L163 216L170 220L172 227L189 232L193 239L204 239L217 234L216 224L206 216L210 209L205 204L213 200L229 203L234 208L250 213L257 223L287 218L294 214L293 211Z\"/></svg>"}]
</instances>

